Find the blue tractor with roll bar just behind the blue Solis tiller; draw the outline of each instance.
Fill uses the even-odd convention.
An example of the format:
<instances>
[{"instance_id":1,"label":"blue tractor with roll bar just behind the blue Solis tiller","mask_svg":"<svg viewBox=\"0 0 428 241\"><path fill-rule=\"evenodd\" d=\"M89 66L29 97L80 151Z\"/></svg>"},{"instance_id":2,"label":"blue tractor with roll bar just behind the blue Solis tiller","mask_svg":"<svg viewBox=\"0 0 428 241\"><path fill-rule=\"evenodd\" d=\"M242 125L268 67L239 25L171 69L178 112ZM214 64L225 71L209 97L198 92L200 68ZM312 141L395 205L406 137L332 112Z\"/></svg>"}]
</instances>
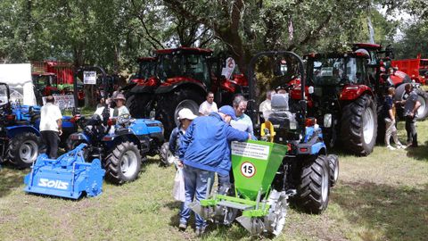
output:
<instances>
[{"instance_id":1,"label":"blue tractor with roll bar just behind the blue Solis tiller","mask_svg":"<svg viewBox=\"0 0 428 241\"><path fill-rule=\"evenodd\" d=\"M87 72L96 73L107 89L108 82L101 67L82 67L75 77L86 76ZM110 94L103 91L104 98L110 97ZM70 135L67 149L74 149L81 143L87 144L86 162L101 160L106 171L105 179L122 184L138 177L141 164L147 155L160 153L164 130L158 120L134 119L130 115L110 118L110 107L104 106L102 114L94 114L89 119L76 114L72 121L76 122L82 131Z\"/></svg>"}]
</instances>

